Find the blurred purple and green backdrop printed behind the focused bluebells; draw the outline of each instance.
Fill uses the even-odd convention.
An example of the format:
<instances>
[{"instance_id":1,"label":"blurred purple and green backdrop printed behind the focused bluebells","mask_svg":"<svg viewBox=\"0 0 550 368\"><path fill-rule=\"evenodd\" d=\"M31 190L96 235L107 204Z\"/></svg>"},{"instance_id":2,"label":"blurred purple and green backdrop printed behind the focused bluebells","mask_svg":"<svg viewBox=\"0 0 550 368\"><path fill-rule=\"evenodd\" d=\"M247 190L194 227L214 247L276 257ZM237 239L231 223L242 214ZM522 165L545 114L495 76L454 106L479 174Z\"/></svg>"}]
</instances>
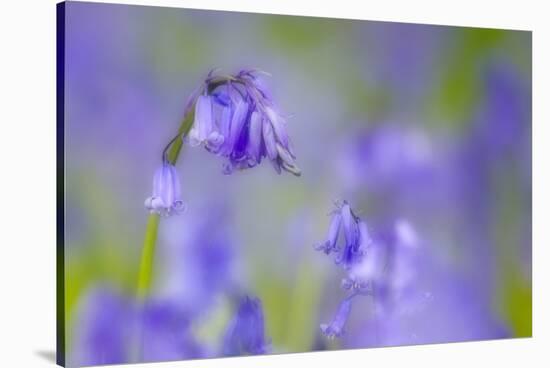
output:
<instances>
[{"instance_id":1,"label":"blurred purple and green backdrop printed behind the focused bluebells","mask_svg":"<svg viewBox=\"0 0 550 368\"><path fill-rule=\"evenodd\" d=\"M218 356L235 290L261 299L274 353L531 335L530 33L92 3L69 3L66 29L70 360L128 361L143 201L216 67L272 74L303 175L224 176L185 148L188 211L161 223L155 264L151 323L169 331L152 329L150 360ZM383 316L364 298L331 341L319 324L342 271L312 244L336 199L418 246L414 297Z\"/></svg>"}]
</instances>

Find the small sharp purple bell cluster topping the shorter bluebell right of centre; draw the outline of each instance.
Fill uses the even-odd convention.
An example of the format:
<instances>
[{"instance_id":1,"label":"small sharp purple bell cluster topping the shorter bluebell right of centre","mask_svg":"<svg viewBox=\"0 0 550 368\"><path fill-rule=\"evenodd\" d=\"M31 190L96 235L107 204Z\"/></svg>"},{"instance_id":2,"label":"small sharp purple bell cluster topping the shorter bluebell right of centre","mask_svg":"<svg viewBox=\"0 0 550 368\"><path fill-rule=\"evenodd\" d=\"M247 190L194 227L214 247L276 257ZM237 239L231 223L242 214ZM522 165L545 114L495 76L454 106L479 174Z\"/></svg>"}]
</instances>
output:
<instances>
[{"instance_id":1,"label":"small sharp purple bell cluster topping the shorter bluebell right of centre","mask_svg":"<svg viewBox=\"0 0 550 368\"><path fill-rule=\"evenodd\" d=\"M335 262L349 269L361 260L371 242L367 225L352 211L347 201L337 202L331 216L327 239L314 247L325 254L336 253ZM338 244L340 230L344 234L343 244Z\"/></svg>"}]
</instances>

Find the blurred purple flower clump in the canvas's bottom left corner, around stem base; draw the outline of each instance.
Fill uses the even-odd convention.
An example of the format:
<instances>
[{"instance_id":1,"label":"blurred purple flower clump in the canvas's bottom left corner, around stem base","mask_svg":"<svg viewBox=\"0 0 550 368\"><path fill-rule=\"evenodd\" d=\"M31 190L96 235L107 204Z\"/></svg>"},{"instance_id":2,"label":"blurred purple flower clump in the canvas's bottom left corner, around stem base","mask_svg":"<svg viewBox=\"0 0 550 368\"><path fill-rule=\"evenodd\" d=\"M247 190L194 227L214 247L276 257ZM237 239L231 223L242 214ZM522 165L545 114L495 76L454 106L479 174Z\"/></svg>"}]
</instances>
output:
<instances>
[{"instance_id":1,"label":"blurred purple flower clump in the canvas's bottom left corner, around stem base","mask_svg":"<svg viewBox=\"0 0 550 368\"><path fill-rule=\"evenodd\" d=\"M134 299L105 288L93 289L77 310L74 365L190 359L204 349L190 334L188 314L172 301L136 304ZM141 322L141 323L137 323ZM141 344L137 344L141 339ZM141 346L141 351L137 351Z\"/></svg>"}]
</instances>

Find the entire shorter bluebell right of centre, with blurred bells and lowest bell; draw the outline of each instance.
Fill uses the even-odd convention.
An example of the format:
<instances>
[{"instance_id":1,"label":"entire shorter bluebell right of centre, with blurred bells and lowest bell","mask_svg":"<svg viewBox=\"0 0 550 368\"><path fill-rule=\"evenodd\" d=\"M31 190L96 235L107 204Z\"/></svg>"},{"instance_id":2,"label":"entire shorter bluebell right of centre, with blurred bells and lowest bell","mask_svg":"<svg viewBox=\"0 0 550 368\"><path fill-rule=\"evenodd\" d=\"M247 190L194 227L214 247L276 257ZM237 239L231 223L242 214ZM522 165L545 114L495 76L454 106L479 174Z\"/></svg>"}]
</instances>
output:
<instances>
[{"instance_id":1,"label":"entire shorter bluebell right of centre, with blurred bells and lowest bell","mask_svg":"<svg viewBox=\"0 0 550 368\"><path fill-rule=\"evenodd\" d=\"M413 302L409 303L407 298L412 294L416 276L419 239L413 226L403 219L371 235L366 223L354 214L346 201L338 202L331 216L327 239L315 245L315 249L325 254L335 252L336 263L344 265L346 271L340 286L348 296L332 321L321 324L321 332L334 338L343 335L352 299L357 296L372 297L375 312L390 313L395 304L410 307ZM343 246L338 245L340 229Z\"/></svg>"}]
</instances>

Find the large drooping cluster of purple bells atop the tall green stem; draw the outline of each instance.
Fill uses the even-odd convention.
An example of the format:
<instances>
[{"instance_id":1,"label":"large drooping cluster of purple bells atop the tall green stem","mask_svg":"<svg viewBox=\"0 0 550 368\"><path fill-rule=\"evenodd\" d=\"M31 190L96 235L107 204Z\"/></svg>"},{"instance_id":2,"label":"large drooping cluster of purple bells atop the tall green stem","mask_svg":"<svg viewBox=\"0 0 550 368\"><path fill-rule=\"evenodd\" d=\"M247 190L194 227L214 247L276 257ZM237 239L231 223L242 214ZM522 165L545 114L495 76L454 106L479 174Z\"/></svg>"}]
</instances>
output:
<instances>
[{"instance_id":1,"label":"large drooping cluster of purple bells atop the tall green stem","mask_svg":"<svg viewBox=\"0 0 550 368\"><path fill-rule=\"evenodd\" d=\"M278 173L283 169L299 176L286 121L259 75L256 70L235 75L210 72L196 97L188 141L227 158L226 174L257 166L267 158Z\"/></svg>"}]
</instances>

